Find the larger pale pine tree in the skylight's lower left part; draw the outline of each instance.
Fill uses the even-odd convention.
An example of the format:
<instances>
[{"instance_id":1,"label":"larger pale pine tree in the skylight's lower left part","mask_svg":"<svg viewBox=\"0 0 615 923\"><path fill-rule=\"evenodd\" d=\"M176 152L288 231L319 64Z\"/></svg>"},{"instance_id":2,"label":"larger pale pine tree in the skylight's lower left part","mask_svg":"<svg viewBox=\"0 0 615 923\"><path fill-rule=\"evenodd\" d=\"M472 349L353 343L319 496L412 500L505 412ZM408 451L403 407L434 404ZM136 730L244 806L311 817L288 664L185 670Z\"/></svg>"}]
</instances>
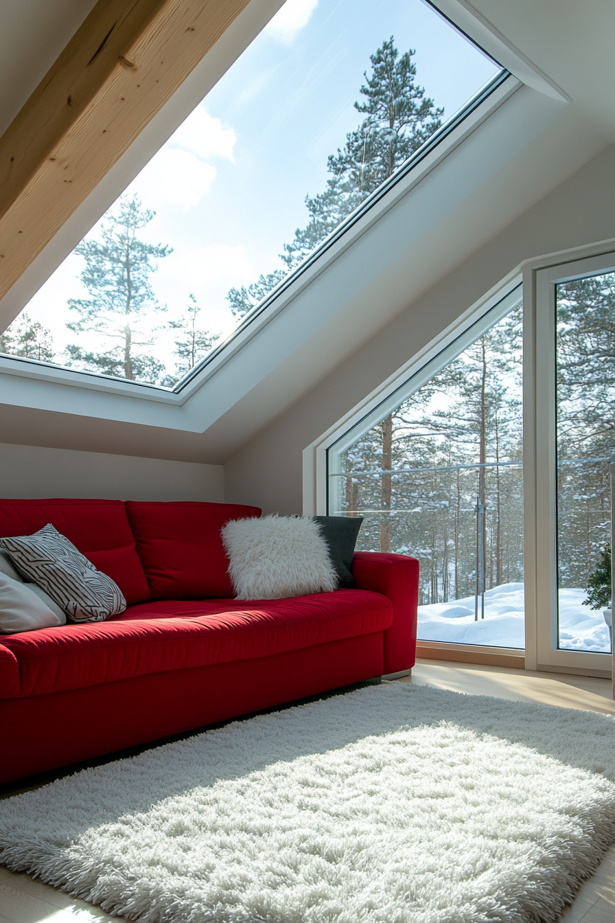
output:
<instances>
[{"instance_id":1,"label":"larger pale pine tree in the skylight's lower left part","mask_svg":"<svg viewBox=\"0 0 615 923\"><path fill-rule=\"evenodd\" d=\"M164 310L154 298L149 278L158 260L172 252L170 246L147 244L138 236L154 214L142 209L136 196L121 198L119 208L108 213L102 224L102 242L82 240L75 248L86 260L80 278L90 297L69 300L78 319L66 326L74 333L94 333L103 342L119 342L100 351L71 343L66 348L69 366L151 383L160 378L164 364L138 351L152 344L152 316Z\"/></svg>"}]
</instances>

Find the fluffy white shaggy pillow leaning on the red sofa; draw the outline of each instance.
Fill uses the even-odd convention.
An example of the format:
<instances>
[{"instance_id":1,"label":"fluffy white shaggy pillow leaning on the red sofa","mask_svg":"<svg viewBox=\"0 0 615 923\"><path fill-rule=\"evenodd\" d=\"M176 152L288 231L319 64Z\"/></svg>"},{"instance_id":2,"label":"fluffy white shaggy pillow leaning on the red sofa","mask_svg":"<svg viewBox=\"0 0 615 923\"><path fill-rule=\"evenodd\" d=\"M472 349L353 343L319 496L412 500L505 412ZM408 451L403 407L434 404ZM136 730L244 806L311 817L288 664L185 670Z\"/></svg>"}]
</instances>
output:
<instances>
[{"instance_id":1,"label":"fluffy white shaggy pillow leaning on the red sofa","mask_svg":"<svg viewBox=\"0 0 615 923\"><path fill-rule=\"evenodd\" d=\"M237 599L284 599L337 589L325 539L311 516L227 522L222 542Z\"/></svg>"}]
</instances>

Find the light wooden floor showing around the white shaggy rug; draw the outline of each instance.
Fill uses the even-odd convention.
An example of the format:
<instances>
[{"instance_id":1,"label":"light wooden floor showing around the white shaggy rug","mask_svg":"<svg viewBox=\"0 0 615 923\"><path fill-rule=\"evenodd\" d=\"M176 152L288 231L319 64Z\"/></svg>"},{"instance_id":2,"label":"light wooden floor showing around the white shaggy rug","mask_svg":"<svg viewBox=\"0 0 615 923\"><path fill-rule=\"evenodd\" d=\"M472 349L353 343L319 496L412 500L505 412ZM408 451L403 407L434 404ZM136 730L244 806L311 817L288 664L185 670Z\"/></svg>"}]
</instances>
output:
<instances>
[{"instance_id":1,"label":"light wooden floor showing around the white shaggy rug","mask_svg":"<svg viewBox=\"0 0 615 923\"><path fill-rule=\"evenodd\" d=\"M412 677L398 681L430 683L457 692L615 714L615 701L610 698L610 680L607 679L421 660L413 669ZM0 923L43 923L46 920L109 923L112 919L114 917L102 910L34 881L28 875L16 875L0 867ZM606 853L592 878L585 882L560 923L582 921L615 923L615 845Z\"/></svg>"}]
</instances>

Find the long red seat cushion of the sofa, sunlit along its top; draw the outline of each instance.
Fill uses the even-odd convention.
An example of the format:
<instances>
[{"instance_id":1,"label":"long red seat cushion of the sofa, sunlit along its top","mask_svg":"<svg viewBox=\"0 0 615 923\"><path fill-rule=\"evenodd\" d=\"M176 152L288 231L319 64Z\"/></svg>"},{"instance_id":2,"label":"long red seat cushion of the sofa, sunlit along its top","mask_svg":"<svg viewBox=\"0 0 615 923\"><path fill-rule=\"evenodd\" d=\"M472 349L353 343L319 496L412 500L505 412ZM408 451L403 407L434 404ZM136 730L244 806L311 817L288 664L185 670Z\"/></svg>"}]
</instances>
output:
<instances>
[{"instance_id":1,"label":"long red seat cushion of the sofa, sunlit along its top","mask_svg":"<svg viewBox=\"0 0 615 923\"><path fill-rule=\"evenodd\" d=\"M5 698L82 689L149 673L284 653L387 629L380 593L338 590L263 602L207 600L134 605L106 622L25 631L2 639L18 665ZM8 664L7 664L8 665ZM130 702L126 702L130 708ZM65 714L63 720L70 721Z\"/></svg>"}]
</instances>

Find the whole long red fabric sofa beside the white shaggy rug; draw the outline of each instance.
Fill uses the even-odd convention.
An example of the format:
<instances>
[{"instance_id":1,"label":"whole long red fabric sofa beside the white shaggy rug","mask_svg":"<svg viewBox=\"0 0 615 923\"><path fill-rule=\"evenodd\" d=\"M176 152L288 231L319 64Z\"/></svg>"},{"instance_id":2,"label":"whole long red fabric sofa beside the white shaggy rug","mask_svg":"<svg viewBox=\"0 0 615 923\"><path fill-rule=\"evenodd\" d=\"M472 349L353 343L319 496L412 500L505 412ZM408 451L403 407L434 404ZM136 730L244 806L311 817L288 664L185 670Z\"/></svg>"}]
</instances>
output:
<instances>
[{"instance_id":1,"label":"whole long red fabric sofa beside the white shaggy rug","mask_svg":"<svg viewBox=\"0 0 615 923\"><path fill-rule=\"evenodd\" d=\"M47 522L118 583L105 622L0 635L0 782L414 665L419 562L357 553L359 589L232 599L222 503L0 500L0 537Z\"/></svg>"}]
</instances>

